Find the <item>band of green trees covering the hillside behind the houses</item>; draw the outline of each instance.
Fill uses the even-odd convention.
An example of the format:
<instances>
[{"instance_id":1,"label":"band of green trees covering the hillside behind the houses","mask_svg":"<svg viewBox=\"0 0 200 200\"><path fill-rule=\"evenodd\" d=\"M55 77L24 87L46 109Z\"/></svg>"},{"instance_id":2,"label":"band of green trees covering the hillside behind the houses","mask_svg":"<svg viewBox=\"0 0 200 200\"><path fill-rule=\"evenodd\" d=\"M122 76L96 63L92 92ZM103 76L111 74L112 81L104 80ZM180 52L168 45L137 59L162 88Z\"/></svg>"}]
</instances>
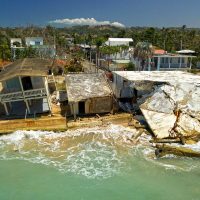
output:
<instances>
[{"instance_id":1,"label":"band of green trees covering the hillside behind the houses","mask_svg":"<svg viewBox=\"0 0 200 200\"><path fill-rule=\"evenodd\" d=\"M0 28L0 59L11 59L10 38L24 39L25 37L37 36L43 37L46 44L52 45L55 42L58 55L69 52L70 46L67 44L65 38L73 37L75 44L96 45L98 49L97 56L99 56L100 46L108 37L130 37L134 40L133 46L136 46L138 42L148 42L168 52L175 52L180 49L192 49L197 52L198 60L200 60L200 45L198 45L200 43L200 29L187 28L185 25L177 28L117 28L112 26L75 26L66 28L29 26ZM29 53L21 55L18 52L17 56L19 58L29 56Z\"/></svg>"}]
</instances>

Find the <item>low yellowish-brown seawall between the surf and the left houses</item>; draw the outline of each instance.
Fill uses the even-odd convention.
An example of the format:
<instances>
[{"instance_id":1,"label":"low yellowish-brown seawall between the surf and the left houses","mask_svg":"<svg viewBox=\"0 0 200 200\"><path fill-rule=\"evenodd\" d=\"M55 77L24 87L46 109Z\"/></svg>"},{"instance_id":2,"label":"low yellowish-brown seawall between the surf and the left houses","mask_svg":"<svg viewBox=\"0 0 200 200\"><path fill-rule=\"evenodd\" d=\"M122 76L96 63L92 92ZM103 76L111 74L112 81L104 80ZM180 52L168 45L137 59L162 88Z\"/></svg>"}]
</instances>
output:
<instances>
[{"instance_id":1,"label":"low yellowish-brown seawall between the surf and the left houses","mask_svg":"<svg viewBox=\"0 0 200 200\"><path fill-rule=\"evenodd\" d=\"M63 132L79 128L103 126L108 123L127 127L131 118L132 115L130 114L120 113L115 115L78 118L76 121L68 120L62 116L42 117L37 119L0 120L0 135L10 134L17 130Z\"/></svg>"}]
</instances>

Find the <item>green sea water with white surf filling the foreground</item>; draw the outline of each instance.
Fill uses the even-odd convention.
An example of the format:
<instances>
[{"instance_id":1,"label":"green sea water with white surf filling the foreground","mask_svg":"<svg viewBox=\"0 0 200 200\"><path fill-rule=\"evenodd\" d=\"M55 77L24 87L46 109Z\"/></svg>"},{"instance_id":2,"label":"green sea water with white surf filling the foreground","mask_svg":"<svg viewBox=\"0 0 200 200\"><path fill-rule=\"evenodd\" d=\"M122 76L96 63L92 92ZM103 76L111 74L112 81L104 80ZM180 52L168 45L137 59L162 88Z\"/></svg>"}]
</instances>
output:
<instances>
[{"instance_id":1,"label":"green sea water with white surf filling the foreground","mask_svg":"<svg viewBox=\"0 0 200 200\"><path fill-rule=\"evenodd\" d=\"M0 200L199 200L200 161L156 159L116 125L0 137ZM200 150L200 143L189 146Z\"/></svg>"}]
</instances>

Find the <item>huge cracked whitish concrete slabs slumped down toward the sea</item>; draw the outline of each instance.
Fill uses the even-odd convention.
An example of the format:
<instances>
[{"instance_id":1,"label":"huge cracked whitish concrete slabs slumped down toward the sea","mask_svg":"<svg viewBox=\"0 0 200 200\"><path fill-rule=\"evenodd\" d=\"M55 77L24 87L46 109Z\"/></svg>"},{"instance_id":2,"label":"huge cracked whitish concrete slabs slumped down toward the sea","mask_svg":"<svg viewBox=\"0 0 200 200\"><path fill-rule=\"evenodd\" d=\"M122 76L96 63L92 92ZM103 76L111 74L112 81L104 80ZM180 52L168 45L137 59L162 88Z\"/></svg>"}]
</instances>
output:
<instances>
[{"instance_id":1,"label":"huge cracked whitish concrete slabs slumped down toward the sea","mask_svg":"<svg viewBox=\"0 0 200 200\"><path fill-rule=\"evenodd\" d=\"M154 86L153 92L139 102L156 137L200 134L200 86L198 84L170 82Z\"/></svg>"}]
</instances>

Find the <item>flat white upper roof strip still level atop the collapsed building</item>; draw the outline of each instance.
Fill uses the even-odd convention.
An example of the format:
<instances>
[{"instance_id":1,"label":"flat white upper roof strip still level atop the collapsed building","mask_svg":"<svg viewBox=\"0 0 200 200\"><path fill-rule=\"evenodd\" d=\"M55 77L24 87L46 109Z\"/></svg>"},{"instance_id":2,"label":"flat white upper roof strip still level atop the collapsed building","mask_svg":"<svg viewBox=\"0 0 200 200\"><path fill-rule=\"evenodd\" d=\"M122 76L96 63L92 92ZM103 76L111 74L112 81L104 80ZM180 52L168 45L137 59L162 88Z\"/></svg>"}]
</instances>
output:
<instances>
[{"instance_id":1,"label":"flat white upper roof strip still level atop the collapsed building","mask_svg":"<svg viewBox=\"0 0 200 200\"><path fill-rule=\"evenodd\" d=\"M128 81L148 81L148 82L187 82L200 84L200 76L181 71L115 71L117 74Z\"/></svg>"}]
</instances>

